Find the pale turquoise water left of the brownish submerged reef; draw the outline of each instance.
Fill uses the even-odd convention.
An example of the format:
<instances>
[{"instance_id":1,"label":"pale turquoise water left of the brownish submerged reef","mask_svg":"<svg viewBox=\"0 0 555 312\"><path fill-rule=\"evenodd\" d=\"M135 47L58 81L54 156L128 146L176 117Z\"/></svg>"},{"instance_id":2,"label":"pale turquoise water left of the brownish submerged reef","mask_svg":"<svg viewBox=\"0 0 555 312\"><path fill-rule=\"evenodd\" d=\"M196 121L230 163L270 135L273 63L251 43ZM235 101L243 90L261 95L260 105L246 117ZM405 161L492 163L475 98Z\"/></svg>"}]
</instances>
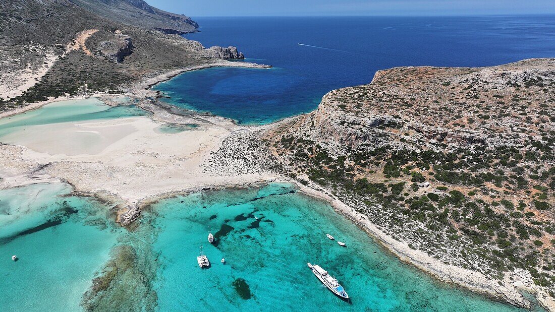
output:
<instances>
[{"instance_id":1,"label":"pale turquoise water left of the brownish submerged reef","mask_svg":"<svg viewBox=\"0 0 555 312\"><path fill-rule=\"evenodd\" d=\"M70 190L62 183L0 190L1 310L80 309L120 229L104 206Z\"/></svg>"}]
</instances>

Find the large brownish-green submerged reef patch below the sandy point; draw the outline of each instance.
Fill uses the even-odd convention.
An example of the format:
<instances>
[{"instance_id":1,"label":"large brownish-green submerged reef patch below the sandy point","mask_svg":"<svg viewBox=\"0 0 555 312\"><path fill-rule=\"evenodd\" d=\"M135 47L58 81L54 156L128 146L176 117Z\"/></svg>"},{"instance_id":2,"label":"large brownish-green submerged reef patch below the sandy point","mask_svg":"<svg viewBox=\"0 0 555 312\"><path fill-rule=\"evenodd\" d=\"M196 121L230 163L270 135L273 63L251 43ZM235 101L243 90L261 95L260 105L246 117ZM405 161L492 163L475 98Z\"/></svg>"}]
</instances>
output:
<instances>
[{"instance_id":1,"label":"large brownish-green submerged reef patch below the sandy point","mask_svg":"<svg viewBox=\"0 0 555 312\"><path fill-rule=\"evenodd\" d=\"M143 219L138 231L123 234L121 244L97 273L80 305L86 311L153 311L158 296L153 289L158 262L152 249L156 230Z\"/></svg>"}]
</instances>

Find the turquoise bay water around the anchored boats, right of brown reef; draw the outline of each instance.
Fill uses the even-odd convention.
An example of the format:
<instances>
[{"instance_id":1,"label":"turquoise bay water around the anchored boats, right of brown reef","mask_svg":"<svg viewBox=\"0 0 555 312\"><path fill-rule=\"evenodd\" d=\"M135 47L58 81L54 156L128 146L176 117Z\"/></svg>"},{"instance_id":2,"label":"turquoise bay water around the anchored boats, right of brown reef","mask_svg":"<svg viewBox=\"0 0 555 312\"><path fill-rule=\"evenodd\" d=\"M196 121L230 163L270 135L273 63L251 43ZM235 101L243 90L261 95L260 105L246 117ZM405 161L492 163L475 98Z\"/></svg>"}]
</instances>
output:
<instances>
[{"instance_id":1,"label":"turquoise bay water around the anchored boats, right of brown reef","mask_svg":"<svg viewBox=\"0 0 555 312\"><path fill-rule=\"evenodd\" d=\"M196 193L153 207L159 309L516 311L433 282L385 253L325 203L287 185ZM254 217L258 217L258 220ZM217 245L207 242L211 229ZM340 247L330 233L347 243ZM196 263L199 244L211 268ZM226 264L220 263L225 257ZM345 303L322 286L306 263L320 264L350 294ZM244 279L243 296L234 282ZM244 289L244 285L242 285Z\"/></svg>"}]
</instances>

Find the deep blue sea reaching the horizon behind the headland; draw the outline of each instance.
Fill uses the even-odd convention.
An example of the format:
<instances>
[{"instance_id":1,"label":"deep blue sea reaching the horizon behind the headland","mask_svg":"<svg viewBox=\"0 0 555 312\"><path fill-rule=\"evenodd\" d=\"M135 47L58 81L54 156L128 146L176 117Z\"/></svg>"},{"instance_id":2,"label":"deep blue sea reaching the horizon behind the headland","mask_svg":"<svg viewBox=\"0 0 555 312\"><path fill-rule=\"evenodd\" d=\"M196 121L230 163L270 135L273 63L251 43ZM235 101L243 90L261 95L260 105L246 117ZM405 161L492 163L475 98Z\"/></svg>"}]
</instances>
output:
<instances>
[{"instance_id":1,"label":"deep blue sea reaching the horizon behind the headland","mask_svg":"<svg viewBox=\"0 0 555 312\"><path fill-rule=\"evenodd\" d=\"M170 104L264 124L314 110L328 91L407 65L477 67L555 57L555 16L195 18L206 47L235 45L269 70L211 68L155 86ZM299 45L304 44L304 45ZM312 46L312 47L310 47Z\"/></svg>"}]
</instances>

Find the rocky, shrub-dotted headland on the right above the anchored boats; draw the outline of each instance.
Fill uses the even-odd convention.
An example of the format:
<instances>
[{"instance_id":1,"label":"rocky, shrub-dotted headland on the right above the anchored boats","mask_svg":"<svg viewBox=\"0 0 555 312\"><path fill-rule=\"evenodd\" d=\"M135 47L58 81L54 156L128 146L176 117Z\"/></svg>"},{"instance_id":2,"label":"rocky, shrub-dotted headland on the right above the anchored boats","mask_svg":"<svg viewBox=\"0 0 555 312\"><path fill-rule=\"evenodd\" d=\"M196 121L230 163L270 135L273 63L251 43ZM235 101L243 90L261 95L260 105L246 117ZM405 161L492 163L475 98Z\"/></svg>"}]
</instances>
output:
<instances>
[{"instance_id":1,"label":"rocky, shrub-dotted headland on the right above the anchored boats","mask_svg":"<svg viewBox=\"0 0 555 312\"><path fill-rule=\"evenodd\" d=\"M266 140L393 238L493 279L526 270L553 298L553 103L555 59L392 68Z\"/></svg>"}]
</instances>

